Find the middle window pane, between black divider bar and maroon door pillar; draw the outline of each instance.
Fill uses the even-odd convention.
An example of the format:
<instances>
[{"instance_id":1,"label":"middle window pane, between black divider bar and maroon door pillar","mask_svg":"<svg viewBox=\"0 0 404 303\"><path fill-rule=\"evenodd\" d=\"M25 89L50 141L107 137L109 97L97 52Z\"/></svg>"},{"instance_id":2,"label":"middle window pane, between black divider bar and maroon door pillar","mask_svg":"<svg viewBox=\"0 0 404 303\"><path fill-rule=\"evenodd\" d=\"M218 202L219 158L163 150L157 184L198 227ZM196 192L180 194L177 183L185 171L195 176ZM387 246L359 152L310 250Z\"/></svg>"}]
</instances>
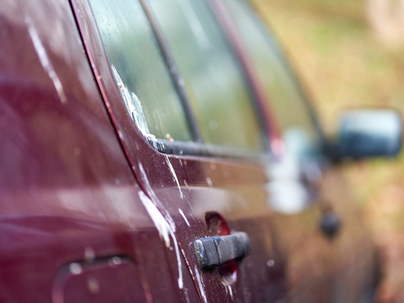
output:
<instances>
[{"instance_id":1,"label":"middle window pane, between black divider bar and maroon door pillar","mask_svg":"<svg viewBox=\"0 0 404 303\"><path fill-rule=\"evenodd\" d=\"M149 0L205 143L262 150L241 69L206 1Z\"/></svg>"}]
</instances>

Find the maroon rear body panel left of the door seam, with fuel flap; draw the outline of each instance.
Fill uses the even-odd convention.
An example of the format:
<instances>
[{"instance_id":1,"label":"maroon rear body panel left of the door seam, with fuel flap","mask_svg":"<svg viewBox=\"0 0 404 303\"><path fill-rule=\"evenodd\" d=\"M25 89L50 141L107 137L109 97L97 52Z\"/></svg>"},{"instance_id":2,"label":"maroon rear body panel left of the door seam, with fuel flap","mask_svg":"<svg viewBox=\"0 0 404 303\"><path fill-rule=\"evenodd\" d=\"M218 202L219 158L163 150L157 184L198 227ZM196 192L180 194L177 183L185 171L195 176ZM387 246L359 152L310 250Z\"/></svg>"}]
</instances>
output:
<instances>
[{"instance_id":1,"label":"maroon rear body panel left of the door seam, with fuel flap","mask_svg":"<svg viewBox=\"0 0 404 303\"><path fill-rule=\"evenodd\" d=\"M0 300L94 301L133 275L116 283L148 302L197 301L186 268L181 291L172 279L178 258L142 203L69 3L6 1L0 15ZM114 258L129 261L97 267Z\"/></svg>"}]
</instances>

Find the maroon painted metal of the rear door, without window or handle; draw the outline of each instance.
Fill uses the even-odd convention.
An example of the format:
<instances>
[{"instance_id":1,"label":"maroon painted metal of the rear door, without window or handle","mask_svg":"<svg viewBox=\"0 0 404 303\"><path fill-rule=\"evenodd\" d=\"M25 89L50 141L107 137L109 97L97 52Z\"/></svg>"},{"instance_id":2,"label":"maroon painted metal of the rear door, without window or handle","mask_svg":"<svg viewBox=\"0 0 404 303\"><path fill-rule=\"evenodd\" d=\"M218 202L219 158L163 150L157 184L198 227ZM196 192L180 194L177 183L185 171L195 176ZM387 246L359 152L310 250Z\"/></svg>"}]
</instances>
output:
<instances>
[{"instance_id":1,"label":"maroon painted metal of the rear door, without window or handle","mask_svg":"<svg viewBox=\"0 0 404 303\"><path fill-rule=\"evenodd\" d=\"M83 1L75 4L75 9L77 15L77 11L90 8ZM134 173L166 220L173 222L179 249L201 299L272 301L281 297L283 260L274 239L271 210L266 204L263 162L158 153L128 114L108 62L103 56L96 56L104 53L104 49L100 38L94 35L94 20L85 16L78 23ZM209 212L222 215L232 231L251 235L254 248L241 262L235 284L224 285L216 270L200 272L197 267L192 242L208 235L205 215ZM268 260L275 260L276 266L268 267ZM267 281L268 287L260 286L263 281Z\"/></svg>"}]
</instances>

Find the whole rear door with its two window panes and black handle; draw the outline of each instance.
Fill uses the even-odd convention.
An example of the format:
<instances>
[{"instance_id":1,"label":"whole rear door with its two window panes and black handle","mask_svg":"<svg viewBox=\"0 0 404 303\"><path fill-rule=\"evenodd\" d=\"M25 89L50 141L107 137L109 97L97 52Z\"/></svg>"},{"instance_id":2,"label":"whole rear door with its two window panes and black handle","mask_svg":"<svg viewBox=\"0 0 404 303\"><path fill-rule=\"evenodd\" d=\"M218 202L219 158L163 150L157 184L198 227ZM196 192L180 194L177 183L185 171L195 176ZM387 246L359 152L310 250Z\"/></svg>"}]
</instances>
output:
<instances>
[{"instance_id":1,"label":"whole rear door with its two window panes and black handle","mask_svg":"<svg viewBox=\"0 0 404 303\"><path fill-rule=\"evenodd\" d=\"M284 260L268 207L267 136L211 8L124 0L73 7L112 122L147 193L143 204L176 252L178 288L189 270L201 301L281 298ZM240 232L249 237L247 256L200 269L195 240Z\"/></svg>"}]
</instances>

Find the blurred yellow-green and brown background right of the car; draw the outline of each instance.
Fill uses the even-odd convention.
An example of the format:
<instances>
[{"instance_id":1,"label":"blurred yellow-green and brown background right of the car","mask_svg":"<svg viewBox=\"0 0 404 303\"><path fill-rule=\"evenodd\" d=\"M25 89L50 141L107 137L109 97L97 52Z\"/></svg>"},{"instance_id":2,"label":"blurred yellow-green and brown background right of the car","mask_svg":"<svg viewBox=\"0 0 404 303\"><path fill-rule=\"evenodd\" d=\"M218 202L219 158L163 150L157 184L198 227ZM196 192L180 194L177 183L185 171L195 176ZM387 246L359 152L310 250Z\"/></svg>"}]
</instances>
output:
<instances>
[{"instance_id":1,"label":"blurred yellow-green and brown background right of the car","mask_svg":"<svg viewBox=\"0 0 404 303\"><path fill-rule=\"evenodd\" d=\"M356 107L404 113L404 1L251 0L272 27L327 133ZM345 164L380 248L378 302L404 302L404 154Z\"/></svg>"}]
</instances>

